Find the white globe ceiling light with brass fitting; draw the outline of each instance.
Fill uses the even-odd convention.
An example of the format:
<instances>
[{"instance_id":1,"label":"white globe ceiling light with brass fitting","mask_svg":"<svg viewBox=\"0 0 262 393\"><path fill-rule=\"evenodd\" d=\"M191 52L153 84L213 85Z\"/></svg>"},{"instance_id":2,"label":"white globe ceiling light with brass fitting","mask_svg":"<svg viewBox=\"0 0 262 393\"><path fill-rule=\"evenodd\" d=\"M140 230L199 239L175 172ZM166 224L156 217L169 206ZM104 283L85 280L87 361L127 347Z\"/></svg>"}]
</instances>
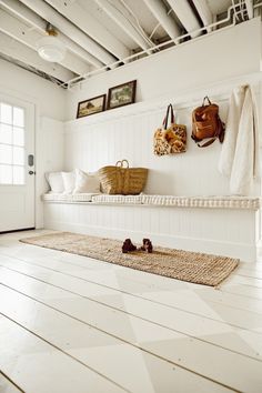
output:
<instances>
[{"instance_id":1,"label":"white globe ceiling light with brass fitting","mask_svg":"<svg viewBox=\"0 0 262 393\"><path fill-rule=\"evenodd\" d=\"M48 37L41 38L37 42L38 54L46 61L60 62L64 59L67 48L62 41L59 40L58 32L48 23Z\"/></svg>"}]
</instances>

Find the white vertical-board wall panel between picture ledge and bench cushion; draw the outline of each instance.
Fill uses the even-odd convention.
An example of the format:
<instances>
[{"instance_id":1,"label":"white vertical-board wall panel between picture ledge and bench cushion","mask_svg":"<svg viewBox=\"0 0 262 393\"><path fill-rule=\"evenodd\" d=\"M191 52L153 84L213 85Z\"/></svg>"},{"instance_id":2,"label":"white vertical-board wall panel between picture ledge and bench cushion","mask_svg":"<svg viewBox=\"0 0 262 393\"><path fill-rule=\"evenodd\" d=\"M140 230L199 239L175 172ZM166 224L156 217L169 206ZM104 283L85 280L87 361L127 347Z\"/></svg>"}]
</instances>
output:
<instances>
[{"instance_id":1,"label":"white vertical-board wall panel between picture ledge and bench cushion","mask_svg":"<svg viewBox=\"0 0 262 393\"><path fill-rule=\"evenodd\" d=\"M201 102L200 102L201 103ZM144 192L174 195L226 195L229 181L218 171L221 151L219 141L200 149L191 139L191 114L194 107L177 111L177 121L188 128L188 151L181 154L153 154L153 133L161 125L164 109L103 120L102 114L90 122L69 122L66 127L66 170L80 168L93 172L118 160L128 159L131 167L150 169ZM220 102L220 113L226 119L228 101ZM111 111L113 112L113 111ZM94 117L94 115L93 115ZM258 188L253 194L258 193Z\"/></svg>"}]
</instances>

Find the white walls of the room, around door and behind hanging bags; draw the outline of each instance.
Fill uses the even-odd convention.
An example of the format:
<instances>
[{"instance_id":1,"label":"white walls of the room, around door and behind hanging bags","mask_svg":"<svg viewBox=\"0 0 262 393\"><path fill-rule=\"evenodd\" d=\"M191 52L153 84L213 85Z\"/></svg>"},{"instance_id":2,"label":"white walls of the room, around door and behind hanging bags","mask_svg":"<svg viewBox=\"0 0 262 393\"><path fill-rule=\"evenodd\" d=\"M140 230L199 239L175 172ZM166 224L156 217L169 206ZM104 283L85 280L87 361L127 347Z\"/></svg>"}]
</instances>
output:
<instances>
[{"instance_id":1,"label":"white walls of the room, around door and behind hanging bags","mask_svg":"<svg viewBox=\"0 0 262 393\"><path fill-rule=\"evenodd\" d=\"M229 90L260 71L260 57L261 23L254 19L101 73L72 91L0 60L0 92L36 108L37 226L42 225L43 173L63 169L63 162L66 169L92 171L127 158L131 165L150 168L148 192L228 194L228 181L216 171L219 143L200 150L190 140L191 110L208 93L225 118ZM138 103L73 120L79 101L133 79ZM177 104L178 121L188 125L188 152L159 158L152 153L152 135L169 102ZM73 121L66 124L63 149L64 119Z\"/></svg>"}]
</instances>

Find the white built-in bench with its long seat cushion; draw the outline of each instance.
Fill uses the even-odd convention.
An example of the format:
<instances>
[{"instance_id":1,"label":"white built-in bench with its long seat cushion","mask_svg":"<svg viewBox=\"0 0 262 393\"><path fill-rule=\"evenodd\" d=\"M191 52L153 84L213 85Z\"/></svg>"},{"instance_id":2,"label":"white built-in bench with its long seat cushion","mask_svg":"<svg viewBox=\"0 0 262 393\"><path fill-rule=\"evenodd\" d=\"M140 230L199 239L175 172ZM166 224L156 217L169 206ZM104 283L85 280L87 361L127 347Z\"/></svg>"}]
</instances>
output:
<instances>
[{"instance_id":1,"label":"white built-in bench with its long seat cushion","mask_svg":"<svg viewBox=\"0 0 262 393\"><path fill-rule=\"evenodd\" d=\"M44 194L44 228L254 262L260 198Z\"/></svg>"}]
</instances>

